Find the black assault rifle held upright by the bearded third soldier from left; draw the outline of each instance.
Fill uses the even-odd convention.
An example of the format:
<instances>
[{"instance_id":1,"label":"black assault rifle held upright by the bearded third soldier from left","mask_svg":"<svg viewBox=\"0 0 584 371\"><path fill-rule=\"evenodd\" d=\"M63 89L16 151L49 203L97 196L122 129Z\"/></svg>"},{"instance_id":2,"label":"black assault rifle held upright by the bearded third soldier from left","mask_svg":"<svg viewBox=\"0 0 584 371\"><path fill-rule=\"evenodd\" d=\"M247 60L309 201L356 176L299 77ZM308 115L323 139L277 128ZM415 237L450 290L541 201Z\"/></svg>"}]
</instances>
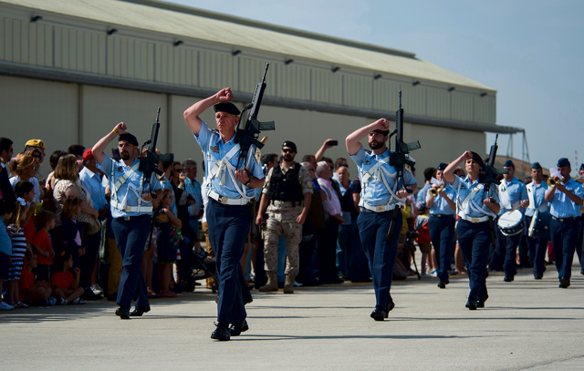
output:
<instances>
[{"instance_id":1,"label":"black assault rifle held upright by the bearded third soldier from left","mask_svg":"<svg viewBox=\"0 0 584 371\"><path fill-rule=\"evenodd\" d=\"M412 143L406 143L403 141L403 108L401 108L401 90L400 90L400 107L395 111L395 130L390 134L391 137L395 135L395 151L391 152L390 144L390 165L393 166L397 172L397 177L395 181L397 182L396 191L405 188L408 193L412 193L412 190L406 188L405 180L403 180L403 171L406 166L412 167L415 165L416 160L410 157L410 151L415 149L421 149L420 141L412 141ZM398 217L398 209L393 209L393 215L391 216L390 229L387 232L385 238L392 241L393 229L395 226L395 219Z\"/></svg>"}]
</instances>

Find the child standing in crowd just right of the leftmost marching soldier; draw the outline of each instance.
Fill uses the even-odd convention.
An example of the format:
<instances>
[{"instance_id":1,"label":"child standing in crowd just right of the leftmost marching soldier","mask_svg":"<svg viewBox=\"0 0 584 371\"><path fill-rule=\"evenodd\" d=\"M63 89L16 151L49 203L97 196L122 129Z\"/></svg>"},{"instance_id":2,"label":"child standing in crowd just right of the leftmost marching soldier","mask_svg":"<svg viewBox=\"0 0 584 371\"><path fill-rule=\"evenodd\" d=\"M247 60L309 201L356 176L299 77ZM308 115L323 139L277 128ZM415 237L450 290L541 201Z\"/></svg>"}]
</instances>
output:
<instances>
[{"instance_id":1,"label":"child standing in crowd just right of the leftmost marching soldier","mask_svg":"<svg viewBox=\"0 0 584 371\"><path fill-rule=\"evenodd\" d=\"M165 188L162 191L161 206L155 214L154 224L158 227L158 266L161 282L161 294L163 297L174 297L171 288L172 264L176 263L176 252L181 240L181 227L183 222L171 211L172 189Z\"/></svg>"}]
</instances>

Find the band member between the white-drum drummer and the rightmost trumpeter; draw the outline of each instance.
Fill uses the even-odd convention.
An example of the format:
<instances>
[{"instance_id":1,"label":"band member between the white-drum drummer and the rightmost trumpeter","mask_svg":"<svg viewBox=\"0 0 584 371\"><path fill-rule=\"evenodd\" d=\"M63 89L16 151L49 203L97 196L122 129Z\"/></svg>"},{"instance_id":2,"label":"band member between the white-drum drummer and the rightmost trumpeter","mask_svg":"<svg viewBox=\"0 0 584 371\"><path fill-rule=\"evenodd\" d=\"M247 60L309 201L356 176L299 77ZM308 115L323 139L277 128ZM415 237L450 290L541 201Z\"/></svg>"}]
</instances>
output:
<instances>
[{"instance_id":1,"label":"band member between the white-drum drummer and the rightmost trumpeter","mask_svg":"<svg viewBox=\"0 0 584 371\"><path fill-rule=\"evenodd\" d=\"M526 233L527 248L533 262L533 276L536 280L541 280L546 272L544 261L546 259L547 240L541 237L529 237L529 225L535 212L549 214L549 205L544 199L547 191L547 183L543 181L543 170L539 162L534 162L531 166L531 183L527 184L527 197L529 206L526 209ZM549 226L547 226L549 228Z\"/></svg>"}]
</instances>

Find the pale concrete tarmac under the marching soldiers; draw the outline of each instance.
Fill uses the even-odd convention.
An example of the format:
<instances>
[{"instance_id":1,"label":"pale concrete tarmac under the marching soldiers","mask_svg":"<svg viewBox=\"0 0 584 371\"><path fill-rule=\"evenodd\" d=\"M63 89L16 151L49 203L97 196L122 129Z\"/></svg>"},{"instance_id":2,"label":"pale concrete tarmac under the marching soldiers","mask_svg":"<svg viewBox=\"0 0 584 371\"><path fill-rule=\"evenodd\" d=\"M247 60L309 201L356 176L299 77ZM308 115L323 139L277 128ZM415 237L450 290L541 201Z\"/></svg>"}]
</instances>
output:
<instances>
[{"instance_id":1,"label":"pale concrete tarmac under the marching soldiers","mask_svg":"<svg viewBox=\"0 0 584 371\"><path fill-rule=\"evenodd\" d=\"M122 321L111 302L0 313L3 370L583 370L584 276L558 288L547 266L515 282L487 280L484 309L464 308L466 276L446 289L410 277L391 288L395 309L375 322L372 284L254 291L250 329L210 339L214 294L201 289L151 301L151 312Z\"/></svg>"}]
</instances>

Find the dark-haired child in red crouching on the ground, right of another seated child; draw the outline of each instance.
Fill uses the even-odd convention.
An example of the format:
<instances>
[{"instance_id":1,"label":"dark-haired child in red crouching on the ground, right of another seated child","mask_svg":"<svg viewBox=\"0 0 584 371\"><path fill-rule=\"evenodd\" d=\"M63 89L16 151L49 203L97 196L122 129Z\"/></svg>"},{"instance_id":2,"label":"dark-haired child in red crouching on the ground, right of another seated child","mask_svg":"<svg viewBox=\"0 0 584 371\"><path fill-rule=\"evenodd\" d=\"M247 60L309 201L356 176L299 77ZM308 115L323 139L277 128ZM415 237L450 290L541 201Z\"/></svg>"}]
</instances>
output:
<instances>
[{"instance_id":1,"label":"dark-haired child in red crouching on the ground, right of another seated child","mask_svg":"<svg viewBox=\"0 0 584 371\"><path fill-rule=\"evenodd\" d=\"M63 251L55 259L55 273L51 274L51 284L55 297L65 300L59 304L85 304L80 298L85 292L79 287L79 268L73 268L73 255ZM71 273L71 268L75 273Z\"/></svg>"}]
</instances>

